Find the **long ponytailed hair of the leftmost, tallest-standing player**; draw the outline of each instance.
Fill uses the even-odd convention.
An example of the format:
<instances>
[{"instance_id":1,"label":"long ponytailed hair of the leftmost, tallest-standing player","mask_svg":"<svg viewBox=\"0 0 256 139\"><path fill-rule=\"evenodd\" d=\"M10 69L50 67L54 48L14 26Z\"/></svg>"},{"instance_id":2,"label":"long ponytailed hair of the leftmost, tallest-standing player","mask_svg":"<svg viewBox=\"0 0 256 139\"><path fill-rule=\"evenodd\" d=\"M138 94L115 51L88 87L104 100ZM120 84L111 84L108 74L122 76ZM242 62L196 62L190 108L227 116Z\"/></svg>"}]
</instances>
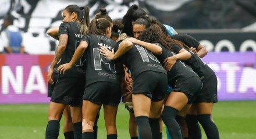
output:
<instances>
[{"instance_id":1,"label":"long ponytailed hair of the leftmost, tallest-standing player","mask_svg":"<svg viewBox=\"0 0 256 139\"><path fill-rule=\"evenodd\" d=\"M90 23L89 18L89 8L87 6L79 7L77 5L69 5L65 8L67 12L70 14L76 13L77 14L77 20L80 22L81 25L81 34L88 34L88 26Z\"/></svg>"}]
</instances>

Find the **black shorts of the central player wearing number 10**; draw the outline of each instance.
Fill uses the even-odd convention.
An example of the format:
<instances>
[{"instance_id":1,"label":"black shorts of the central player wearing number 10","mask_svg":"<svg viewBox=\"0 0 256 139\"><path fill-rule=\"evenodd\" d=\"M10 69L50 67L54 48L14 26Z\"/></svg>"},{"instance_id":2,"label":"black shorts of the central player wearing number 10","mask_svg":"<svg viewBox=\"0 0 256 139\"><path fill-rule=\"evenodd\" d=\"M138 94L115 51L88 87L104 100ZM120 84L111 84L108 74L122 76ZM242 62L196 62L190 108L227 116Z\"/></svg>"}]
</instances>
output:
<instances>
[{"instance_id":1,"label":"black shorts of the central player wearing number 10","mask_svg":"<svg viewBox=\"0 0 256 139\"><path fill-rule=\"evenodd\" d=\"M165 98L167 84L166 74L146 71L133 81L133 94L143 94L154 102L161 101Z\"/></svg>"}]
</instances>

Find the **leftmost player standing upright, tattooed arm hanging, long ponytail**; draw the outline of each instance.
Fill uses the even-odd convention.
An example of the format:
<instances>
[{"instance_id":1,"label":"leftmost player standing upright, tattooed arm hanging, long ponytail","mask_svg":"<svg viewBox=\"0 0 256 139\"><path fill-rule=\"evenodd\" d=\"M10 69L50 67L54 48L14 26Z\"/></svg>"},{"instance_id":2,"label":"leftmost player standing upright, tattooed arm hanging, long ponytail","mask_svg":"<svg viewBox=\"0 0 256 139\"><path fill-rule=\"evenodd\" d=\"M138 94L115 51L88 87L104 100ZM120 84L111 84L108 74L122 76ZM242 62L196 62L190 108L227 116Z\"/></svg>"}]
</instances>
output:
<instances>
[{"instance_id":1,"label":"leftmost player standing upright, tattooed arm hanging, long ponytail","mask_svg":"<svg viewBox=\"0 0 256 139\"><path fill-rule=\"evenodd\" d=\"M53 84L52 75L58 62L67 63L77 47L77 41L88 33L89 9L69 5L63 10L63 23L59 27L59 45L48 72L48 82ZM80 69L83 59L76 63L72 70L59 74L49 104L48 124L45 138L58 138L59 120L67 105L72 113L74 138L81 138L81 98L84 91L84 71Z\"/></svg>"}]
</instances>

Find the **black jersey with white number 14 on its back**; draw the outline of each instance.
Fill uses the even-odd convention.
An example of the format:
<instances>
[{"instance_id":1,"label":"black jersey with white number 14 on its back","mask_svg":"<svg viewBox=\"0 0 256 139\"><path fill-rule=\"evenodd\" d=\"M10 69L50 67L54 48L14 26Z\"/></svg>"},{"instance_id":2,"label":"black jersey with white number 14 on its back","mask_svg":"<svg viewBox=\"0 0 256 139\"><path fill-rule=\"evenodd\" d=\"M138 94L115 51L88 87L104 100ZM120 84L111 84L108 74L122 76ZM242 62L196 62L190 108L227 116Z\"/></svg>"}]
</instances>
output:
<instances>
[{"instance_id":1,"label":"black jersey with white number 14 on its back","mask_svg":"<svg viewBox=\"0 0 256 139\"><path fill-rule=\"evenodd\" d=\"M120 69L115 63L99 53L99 47L106 47L112 51L116 42L103 35L86 35L81 38L86 41L88 47L85 52L86 58L86 86L97 81L108 81L120 84Z\"/></svg>"}]
</instances>

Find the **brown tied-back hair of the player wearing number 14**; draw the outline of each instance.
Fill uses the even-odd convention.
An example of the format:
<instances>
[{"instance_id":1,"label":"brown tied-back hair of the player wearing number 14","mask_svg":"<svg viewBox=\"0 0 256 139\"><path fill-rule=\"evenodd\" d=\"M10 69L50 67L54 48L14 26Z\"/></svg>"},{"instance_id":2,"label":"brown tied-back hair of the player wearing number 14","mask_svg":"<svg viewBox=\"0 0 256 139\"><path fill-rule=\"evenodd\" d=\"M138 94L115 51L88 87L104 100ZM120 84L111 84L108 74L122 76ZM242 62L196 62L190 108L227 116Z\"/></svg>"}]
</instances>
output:
<instances>
[{"instance_id":1,"label":"brown tied-back hair of the player wearing number 14","mask_svg":"<svg viewBox=\"0 0 256 139\"><path fill-rule=\"evenodd\" d=\"M108 27L111 27L111 23L105 18L93 19L90 23L90 34L106 35Z\"/></svg>"}]
</instances>

